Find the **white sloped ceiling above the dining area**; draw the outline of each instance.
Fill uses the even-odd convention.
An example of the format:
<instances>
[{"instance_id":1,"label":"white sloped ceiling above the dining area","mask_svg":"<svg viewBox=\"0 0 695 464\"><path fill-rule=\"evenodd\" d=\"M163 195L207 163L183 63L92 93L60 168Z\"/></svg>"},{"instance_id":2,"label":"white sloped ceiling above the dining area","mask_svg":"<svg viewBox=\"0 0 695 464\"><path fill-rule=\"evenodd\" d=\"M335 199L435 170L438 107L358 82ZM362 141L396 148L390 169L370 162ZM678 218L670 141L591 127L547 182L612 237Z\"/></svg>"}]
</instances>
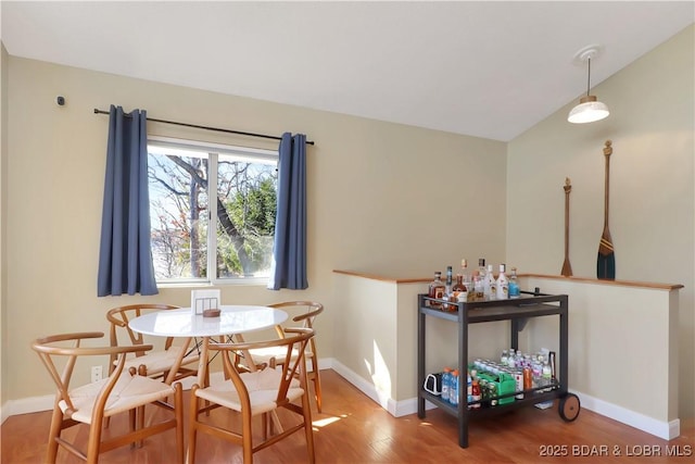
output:
<instances>
[{"instance_id":1,"label":"white sloped ceiling above the dining area","mask_svg":"<svg viewBox=\"0 0 695 464\"><path fill-rule=\"evenodd\" d=\"M695 21L692 0L0 4L11 55L503 141L585 93L581 48L604 47L593 87Z\"/></svg>"}]
</instances>

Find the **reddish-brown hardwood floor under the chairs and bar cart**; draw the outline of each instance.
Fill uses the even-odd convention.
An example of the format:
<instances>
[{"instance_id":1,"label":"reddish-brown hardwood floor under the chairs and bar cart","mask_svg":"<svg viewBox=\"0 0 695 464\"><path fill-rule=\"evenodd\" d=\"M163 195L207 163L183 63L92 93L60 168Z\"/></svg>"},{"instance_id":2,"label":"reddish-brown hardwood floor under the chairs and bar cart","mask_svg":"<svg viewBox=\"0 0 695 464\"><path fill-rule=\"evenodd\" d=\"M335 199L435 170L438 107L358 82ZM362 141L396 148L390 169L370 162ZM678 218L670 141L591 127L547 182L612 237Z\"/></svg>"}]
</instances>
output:
<instances>
[{"instance_id":1,"label":"reddish-brown hardwood floor under the chairs and bar cart","mask_svg":"<svg viewBox=\"0 0 695 464\"><path fill-rule=\"evenodd\" d=\"M681 423L681 437L667 441L582 410L573 423L564 422L557 407L526 407L470 425L469 448L457 442L456 421L430 410L393 417L333 371L321 371L324 413L314 410L317 463L692 463L695 424ZM188 392L185 394L188 404ZM188 409L186 410L188 413ZM213 412L215 421L232 421ZM2 464L41 463L50 412L8 418L0 429ZM111 427L125 426L114 419ZM73 427L71 438L86 442L86 428ZM102 464L168 464L174 462L174 432L148 439L141 449L124 447L104 453ZM241 463L240 449L201 435L198 463ZM592 454L593 452L593 454ZM617 454L619 452L619 455ZM680 452L680 456L667 456ZM650 454L650 455L646 455ZM301 432L260 451L255 463L305 463ZM60 463L80 462L61 450Z\"/></svg>"}]
</instances>

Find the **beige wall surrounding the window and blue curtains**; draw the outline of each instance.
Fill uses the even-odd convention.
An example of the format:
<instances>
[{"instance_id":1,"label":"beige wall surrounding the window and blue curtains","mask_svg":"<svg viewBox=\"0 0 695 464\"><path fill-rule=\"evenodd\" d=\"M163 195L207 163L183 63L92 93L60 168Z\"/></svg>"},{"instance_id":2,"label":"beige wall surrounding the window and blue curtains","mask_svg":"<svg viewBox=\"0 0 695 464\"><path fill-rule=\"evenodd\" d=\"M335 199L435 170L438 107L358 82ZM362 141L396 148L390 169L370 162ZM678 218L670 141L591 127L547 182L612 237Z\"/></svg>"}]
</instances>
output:
<instances>
[{"instance_id":1,"label":"beige wall surrounding the window and blue curtains","mask_svg":"<svg viewBox=\"0 0 695 464\"><path fill-rule=\"evenodd\" d=\"M56 96L66 99L55 104ZM96 296L110 103L151 117L281 134L301 131L308 148L306 291L225 287L223 301L314 299L321 358L336 355L333 268L431 275L460 256L504 256L506 145L340 114L9 58L8 346L4 401L51 391L29 341L66 330L106 330L105 311L134 301L186 305L190 288L151 298ZM258 145L150 124L149 131ZM268 146L267 143L263 146ZM273 145L277 147L277 143ZM476 196L489 204L471 221ZM465 208L468 211L465 211ZM5 337L3 337L4 339ZM102 363L105 365L105 361ZM89 366L78 366L86 380Z\"/></svg>"}]
</instances>

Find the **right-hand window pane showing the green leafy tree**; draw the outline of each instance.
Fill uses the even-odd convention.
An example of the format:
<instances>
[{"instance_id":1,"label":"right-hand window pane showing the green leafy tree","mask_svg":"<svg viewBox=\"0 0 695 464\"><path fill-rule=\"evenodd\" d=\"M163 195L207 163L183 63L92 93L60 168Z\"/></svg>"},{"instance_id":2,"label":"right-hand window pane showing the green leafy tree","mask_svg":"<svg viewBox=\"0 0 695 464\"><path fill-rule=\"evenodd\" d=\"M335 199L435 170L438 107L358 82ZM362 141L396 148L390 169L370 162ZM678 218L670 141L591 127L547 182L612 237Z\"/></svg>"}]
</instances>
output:
<instances>
[{"instance_id":1,"label":"right-hand window pane showing the green leafy tree","mask_svg":"<svg viewBox=\"0 0 695 464\"><path fill-rule=\"evenodd\" d=\"M217 165L217 277L267 277L275 234L275 163L220 155Z\"/></svg>"}]
</instances>

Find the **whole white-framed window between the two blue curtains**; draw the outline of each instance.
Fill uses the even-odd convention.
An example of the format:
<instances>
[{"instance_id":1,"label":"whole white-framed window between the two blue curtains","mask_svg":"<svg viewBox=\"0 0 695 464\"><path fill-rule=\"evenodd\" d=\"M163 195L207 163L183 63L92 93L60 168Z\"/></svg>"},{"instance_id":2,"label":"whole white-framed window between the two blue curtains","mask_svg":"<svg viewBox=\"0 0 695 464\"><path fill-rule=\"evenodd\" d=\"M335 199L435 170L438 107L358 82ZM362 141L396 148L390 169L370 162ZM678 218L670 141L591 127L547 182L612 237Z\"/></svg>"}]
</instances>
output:
<instances>
[{"instance_id":1,"label":"whole white-framed window between the two blue curtains","mask_svg":"<svg viewBox=\"0 0 695 464\"><path fill-rule=\"evenodd\" d=\"M151 137L152 258L157 283L266 280L278 153Z\"/></svg>"}]
</instances>

